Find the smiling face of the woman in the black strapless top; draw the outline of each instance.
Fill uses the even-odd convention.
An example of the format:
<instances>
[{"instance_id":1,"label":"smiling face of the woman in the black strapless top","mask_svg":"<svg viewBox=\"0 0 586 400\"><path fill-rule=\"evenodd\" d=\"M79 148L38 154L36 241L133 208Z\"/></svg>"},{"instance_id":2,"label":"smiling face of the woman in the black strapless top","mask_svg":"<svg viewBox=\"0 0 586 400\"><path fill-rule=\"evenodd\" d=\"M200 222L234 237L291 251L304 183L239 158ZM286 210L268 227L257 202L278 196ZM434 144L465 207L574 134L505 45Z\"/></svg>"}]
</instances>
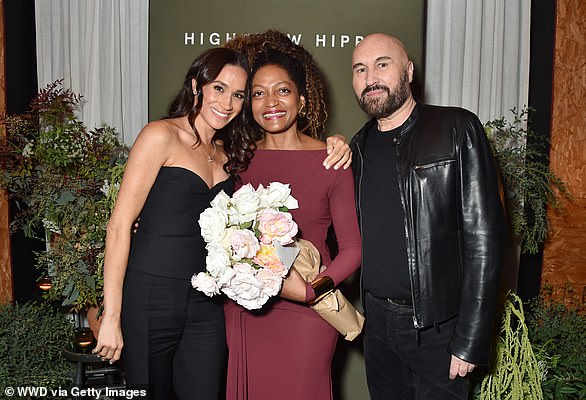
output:
<instances>
[{"instance_id":1,"label":"smiling face of the woman in the black strapless top","mask_svg":"<svg viewBox=\"0 0 586 400\"><path fill-rule=\"evenodd\" d=\"M242 111L246 88L246 71L236 65L226 65L216 79L204 85L203 99L195 125L199 132L224 128ZM195 79L192 89L197 90Z\"/></svg>"}]
</instances>

